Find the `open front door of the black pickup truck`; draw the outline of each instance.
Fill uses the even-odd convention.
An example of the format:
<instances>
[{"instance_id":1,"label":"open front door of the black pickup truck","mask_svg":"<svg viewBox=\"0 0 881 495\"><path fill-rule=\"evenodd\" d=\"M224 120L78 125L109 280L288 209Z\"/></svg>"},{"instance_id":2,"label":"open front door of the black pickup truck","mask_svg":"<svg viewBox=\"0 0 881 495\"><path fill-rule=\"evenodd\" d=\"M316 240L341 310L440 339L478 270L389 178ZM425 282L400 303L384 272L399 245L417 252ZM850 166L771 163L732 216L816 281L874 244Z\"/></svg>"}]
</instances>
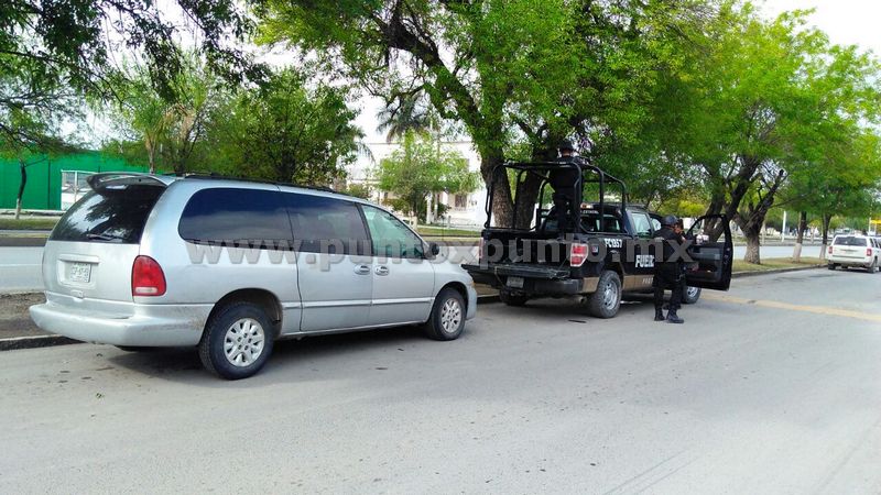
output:
<instances>
[{"instance_id":1,"label":"open front door of the black pickup truck","mask_svg":"<svg viewBox=\"0 0 881 495\"><path fill-rule=\"evenodd\" d=\"M731 264L735 246L728 217L708 215L695 221L686 239L692 241L686 266L686 284L692 287L728 290L731 285Z\"/></svg>"}]
</instances>

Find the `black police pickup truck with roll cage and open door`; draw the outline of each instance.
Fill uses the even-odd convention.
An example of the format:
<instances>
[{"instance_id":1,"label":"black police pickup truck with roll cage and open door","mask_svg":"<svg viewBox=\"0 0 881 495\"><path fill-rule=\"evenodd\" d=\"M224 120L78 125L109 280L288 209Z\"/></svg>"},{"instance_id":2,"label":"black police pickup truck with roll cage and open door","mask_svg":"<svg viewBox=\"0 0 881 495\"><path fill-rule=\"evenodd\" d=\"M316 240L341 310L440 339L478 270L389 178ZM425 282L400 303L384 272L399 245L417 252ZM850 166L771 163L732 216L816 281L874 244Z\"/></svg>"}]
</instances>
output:
<instances>
[{"instance_id":1,"label":"black police pickup truck with roll cage and open door","mask_svg":"<svg viewBox=\"0 0 881 495\"><path fill-rule=\"evenodd\" d=\"M558 212L550 206L550 184L554 174L566 168L569 177L578 177L567 191L575 200L567 201L567 211ZM507 163L496 167L496 174L505 176L514 191L523 190L526 182L540 184L540 191L534 208L529 208L527 226L522 219L518 222L516 213L510 224L499 226L492 218L496 191L490 188L479 262L463 266L475 282L498 288L510 306L540 297L580 298L589 314L599 318L614 317L626 294L652 290L655 254L662 253L653 241L660 217L629 207L623 182L580 158ZM588 197L596 200L584 201ZM518 204L521 198L531 197L515 194L514 211L527 210ZM561 231L557 224L564 215L568 216L563 222L566 229ZM728 290L733 257L728 219L701 217L686 238L692 242L682 253L688 255L685 300L695 302L700 288Z\"/></svg>"}]
</instances>

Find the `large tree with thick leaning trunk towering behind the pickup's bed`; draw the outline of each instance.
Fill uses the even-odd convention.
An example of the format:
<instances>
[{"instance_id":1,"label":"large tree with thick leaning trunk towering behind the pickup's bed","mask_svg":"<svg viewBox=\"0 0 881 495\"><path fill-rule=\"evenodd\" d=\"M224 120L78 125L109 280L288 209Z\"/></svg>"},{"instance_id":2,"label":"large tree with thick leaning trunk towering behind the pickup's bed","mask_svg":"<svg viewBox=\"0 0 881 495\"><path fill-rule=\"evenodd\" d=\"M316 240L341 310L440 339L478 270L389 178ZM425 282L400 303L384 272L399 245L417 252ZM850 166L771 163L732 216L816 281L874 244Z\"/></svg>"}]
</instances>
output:
<instances>
[{"instance_id":1,"label":"large tree with thick leaning trunk towering behind the pickup's bed","mask_svg":"<svg viewBox=\"0 0 881 495\"><path fill-rule=\"evenodd\" d=\"M513 194L492 170L526 142L548 156L574 130L629 135L641 118L667 42L689 32L708 2L389 0L260 4L261 40L317 54L373 95L428 95L433 110L460 123L497 180L493 213L513 217ZM624 129L627 128L627 129ZM537 184L518 201L531 209ZM531 196L531 197L530 197ZM519 216L531 218L531 216Z\"/></svg>"}]
</instances>

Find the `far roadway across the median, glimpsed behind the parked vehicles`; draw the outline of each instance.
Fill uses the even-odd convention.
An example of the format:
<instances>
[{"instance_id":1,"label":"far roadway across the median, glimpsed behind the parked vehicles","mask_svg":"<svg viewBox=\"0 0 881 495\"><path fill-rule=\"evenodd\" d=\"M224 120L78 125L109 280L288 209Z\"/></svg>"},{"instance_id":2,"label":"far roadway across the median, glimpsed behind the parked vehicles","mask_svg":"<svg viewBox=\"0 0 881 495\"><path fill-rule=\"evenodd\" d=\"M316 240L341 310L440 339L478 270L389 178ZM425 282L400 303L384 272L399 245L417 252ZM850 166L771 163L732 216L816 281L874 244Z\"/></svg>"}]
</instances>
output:
<instances>
[{"instance_id":1,"label":"far roadway across the median, glimpsed behind the parked vehicles","mask_svg":"<svg viewBox=\"0 0 881 495\"><path fill-rule=\"evenodd\" d=\"M459 262L474 262L477 249L471 246L444 248L444 255L455 250L455 260ZM792 256L792 246L766 245L762 246L761 255L764 257ZM735 246L735 256L743 257L746 248ZM803 251L804 256L819 256L818 245L807 245ZM40 275L40 262L43 248L0 248L0 293L11 290L42 290L43 280Z\"/></svg>"}]
</instances>

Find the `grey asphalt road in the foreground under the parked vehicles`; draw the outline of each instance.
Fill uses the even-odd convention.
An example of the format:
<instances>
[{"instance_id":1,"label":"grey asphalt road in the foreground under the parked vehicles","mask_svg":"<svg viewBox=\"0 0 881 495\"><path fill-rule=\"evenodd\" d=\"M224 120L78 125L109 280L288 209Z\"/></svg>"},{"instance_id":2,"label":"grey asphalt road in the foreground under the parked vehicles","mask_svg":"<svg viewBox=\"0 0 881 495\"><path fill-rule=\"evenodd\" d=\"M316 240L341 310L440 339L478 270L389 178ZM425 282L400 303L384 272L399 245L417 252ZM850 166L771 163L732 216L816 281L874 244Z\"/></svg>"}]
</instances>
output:
<instances>
[{"instance_id":1,"label":"grey asphalt road in the foreground under the parked vehicles","mask_svg":"<svg viewBox=\"0 0 881 495\"><path fill-rule=\"evenodd\" d=\"M705 293L683 326L566 301L281 343L0 353L0 493L879 493L881 275Z\"/></svg>"}]
</instances>

